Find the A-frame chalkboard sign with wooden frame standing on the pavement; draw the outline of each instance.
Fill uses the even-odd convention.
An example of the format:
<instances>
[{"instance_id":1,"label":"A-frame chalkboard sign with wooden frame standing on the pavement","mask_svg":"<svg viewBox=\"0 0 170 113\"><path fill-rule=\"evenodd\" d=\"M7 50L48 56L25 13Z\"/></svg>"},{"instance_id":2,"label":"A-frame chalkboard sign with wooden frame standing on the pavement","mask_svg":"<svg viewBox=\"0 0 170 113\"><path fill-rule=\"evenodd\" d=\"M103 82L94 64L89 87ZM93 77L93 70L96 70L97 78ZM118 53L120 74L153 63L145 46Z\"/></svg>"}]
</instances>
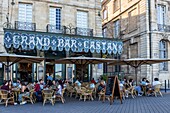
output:
<instances>
[{"instance_id":1,"label":"A-frame chalkboard sign with wooden frame standing on the pavement","mask_svg":"<svg viewBox=\"0 0 170 113\"><path fill-rule=\"evenodd\" d=\"M119 81L117 76L109 76L106 81L105 96L103 102L105 101L106 96L110 100L110 105L113 103L114 97L119 97L122 104L122 96L120 94Z\"/></svg>"}]
</instances>

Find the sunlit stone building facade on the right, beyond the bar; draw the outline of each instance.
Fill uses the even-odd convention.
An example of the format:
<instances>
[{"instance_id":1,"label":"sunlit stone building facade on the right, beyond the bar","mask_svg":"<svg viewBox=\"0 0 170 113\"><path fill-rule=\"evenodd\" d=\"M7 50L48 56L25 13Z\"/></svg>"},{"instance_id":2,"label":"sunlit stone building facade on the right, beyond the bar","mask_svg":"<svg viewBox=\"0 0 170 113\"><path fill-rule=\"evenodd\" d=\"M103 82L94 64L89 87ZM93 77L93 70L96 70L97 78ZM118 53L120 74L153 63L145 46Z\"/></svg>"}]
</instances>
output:
<instances>
[{"instance_id":1,"label":"sunlit stone building facade on the right, beyond the bar","mask_svg":"<svg viewBox=\"0 0 170 113\"><path fill-rule=\"evenodd\" d=\"M121 58L169 58L169 7L169 0L103 0L103 35L123 39ZM143 65L138 80L158 77L163 83L170 79L169 70L169 63ZM121 66L121 71L134 77L130 66Z\"/></svg>"}]
</instances>

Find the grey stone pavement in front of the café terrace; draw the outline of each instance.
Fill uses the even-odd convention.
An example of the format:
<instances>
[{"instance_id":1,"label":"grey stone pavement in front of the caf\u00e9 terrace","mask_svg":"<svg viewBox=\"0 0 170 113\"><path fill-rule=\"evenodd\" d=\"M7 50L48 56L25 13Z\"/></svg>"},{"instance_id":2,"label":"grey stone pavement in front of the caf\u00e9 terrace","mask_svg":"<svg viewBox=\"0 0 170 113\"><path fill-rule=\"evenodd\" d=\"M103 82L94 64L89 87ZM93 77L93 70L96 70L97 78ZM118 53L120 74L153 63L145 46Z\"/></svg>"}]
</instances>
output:
<instances>
[{"instance_id":1,"label":"grey stone pavement in front of the caf\u00e9 terrace","mask_svg":"<svg viewBox=\"0 0 170 113\"><path fill-rule=\"evenodd\" d=\"M66 103L56 102L54 106L46 103L25 105L9 105L4 107L0 105L0 113L170 113L170 94L164 94L164 97L136 97L123 101L115 100L113 105L108 101L79 101L74 98L66 98Z\"/></svg>"}]
</instances>

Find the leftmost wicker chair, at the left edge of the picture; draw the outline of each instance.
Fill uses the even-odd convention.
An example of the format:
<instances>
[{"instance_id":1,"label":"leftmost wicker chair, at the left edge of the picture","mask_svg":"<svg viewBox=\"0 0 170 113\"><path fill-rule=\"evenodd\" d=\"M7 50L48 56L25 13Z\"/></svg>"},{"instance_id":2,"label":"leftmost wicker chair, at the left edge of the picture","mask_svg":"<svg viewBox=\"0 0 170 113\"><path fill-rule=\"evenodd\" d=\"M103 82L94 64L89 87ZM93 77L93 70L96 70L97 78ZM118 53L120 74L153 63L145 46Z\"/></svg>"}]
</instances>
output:
<instances>
[{"instance_id":1,"label":"leftmost wicker chair, at the left edge of the picture","mask_svg":"<svg viewBox=\"0 0 170 113\"><path fill-rule=\"evenodd\" d=\"M6 90L0 90L0 100L2 101L1 103L7 107L8 103L14 104L14 94Z\"/></svg>"}]
</instances>

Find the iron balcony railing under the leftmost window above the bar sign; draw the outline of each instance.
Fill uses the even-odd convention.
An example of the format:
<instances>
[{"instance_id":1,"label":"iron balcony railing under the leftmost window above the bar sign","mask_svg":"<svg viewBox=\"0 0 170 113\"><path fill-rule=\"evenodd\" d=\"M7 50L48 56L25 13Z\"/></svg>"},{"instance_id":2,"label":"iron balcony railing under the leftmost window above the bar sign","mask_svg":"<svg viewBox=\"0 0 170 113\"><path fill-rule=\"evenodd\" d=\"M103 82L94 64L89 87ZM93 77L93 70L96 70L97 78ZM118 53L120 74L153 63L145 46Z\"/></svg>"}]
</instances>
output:
<instances>
[{"instance_id":1,"label":"iron balcony railing under the leftmost window above the bar sign","mask_svg":"<svg viewBox=\"0 0 170 113\"><path fill-rule=\"evenodd\" d=\"M17 30L36 31L36 24L31 23L31 22L15 21L15 29L17 29Z\"/></svg>"}]
</instances>

